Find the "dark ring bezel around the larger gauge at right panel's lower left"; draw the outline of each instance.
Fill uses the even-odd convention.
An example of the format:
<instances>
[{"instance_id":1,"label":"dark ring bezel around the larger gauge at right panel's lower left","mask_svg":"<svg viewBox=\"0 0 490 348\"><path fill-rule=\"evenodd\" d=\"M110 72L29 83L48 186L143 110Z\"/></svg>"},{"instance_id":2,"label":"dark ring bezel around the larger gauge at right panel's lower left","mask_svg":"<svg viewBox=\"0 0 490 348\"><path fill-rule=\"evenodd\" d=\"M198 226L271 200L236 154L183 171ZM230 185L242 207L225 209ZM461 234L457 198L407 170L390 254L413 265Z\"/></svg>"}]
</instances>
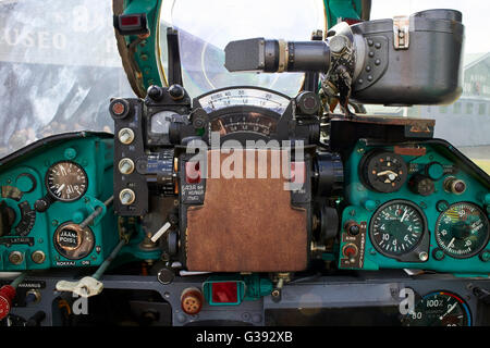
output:
<instances>
[{"instance_id":1,"label":"dark ring bezel around the larger gauge at right panel's lower left","mask_svg":"<svg viewBox=\"0 0 490 348\"><path fill-rule=\"evenodd\" d=\"M394 206L394 204L404 204L404 206L408 206L409 208L412 208L414 211L416 211L420 217L421 221L421 233L420 236L418 237L417 241L414 243L413 246L411 246L411 248L407 248L406 250L404 250L401 253L393 253L393 252L389 252L385 249L381 248L379 246L379 243L375 239L375 219L388 207ZM427 216L424 213L424 211L421 210L420 207L418 207L415 202L409 201L409 200L405 200L405 199L393 199L390 200L383 204L381 204L371 215L371 219L369 221L369 240L371 243L371 245L375 247L375 249L381 253L382 256L387 257L387 258L394 258L394 259L399 259L402 258L404 256L407 256L409 253L412 253L413 251L415 251L420 244L424 240L424 236L428 233L428 223L427 223Z\"/></svg>"}]
</instances>

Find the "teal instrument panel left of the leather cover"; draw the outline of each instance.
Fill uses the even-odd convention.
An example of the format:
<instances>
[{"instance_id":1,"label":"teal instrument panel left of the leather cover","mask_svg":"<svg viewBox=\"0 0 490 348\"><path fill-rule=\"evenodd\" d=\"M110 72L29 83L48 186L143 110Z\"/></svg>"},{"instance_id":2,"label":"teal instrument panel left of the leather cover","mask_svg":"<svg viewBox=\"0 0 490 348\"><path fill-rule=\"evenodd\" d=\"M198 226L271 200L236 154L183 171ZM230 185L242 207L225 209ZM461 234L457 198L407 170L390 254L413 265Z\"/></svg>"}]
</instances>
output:
<instances>
[{"instance_id":1,"label":"teal instrument panel left of the leather cover","mask_svg":"<svg viewBox=\"0 0 490 348\"><path fill-rule=\"evenodd\" d=\"M117 231L102 217L112 160L112 138L88 133L52 136L2 159L0 270L100 264L119 239L102 234ZM81 227L99 208L100 217Z\"/></svg>"}]
</instances>

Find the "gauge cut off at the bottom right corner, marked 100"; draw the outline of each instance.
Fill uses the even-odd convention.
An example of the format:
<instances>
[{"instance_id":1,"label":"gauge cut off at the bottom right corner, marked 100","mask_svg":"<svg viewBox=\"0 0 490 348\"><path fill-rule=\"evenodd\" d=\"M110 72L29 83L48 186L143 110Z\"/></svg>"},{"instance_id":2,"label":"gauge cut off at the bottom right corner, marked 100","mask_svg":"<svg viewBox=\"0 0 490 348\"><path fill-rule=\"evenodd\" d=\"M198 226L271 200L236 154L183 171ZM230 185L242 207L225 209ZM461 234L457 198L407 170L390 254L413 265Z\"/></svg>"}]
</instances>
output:
<instances>
[{"instance_id":1,"label":"gauge cut off at the bottom right corner, marked 100","mask_svg":"<svg viewBox=\"0 0 490 348\"><path fill-rule=\"evenodd\" d=\"M434 291L422 297L402 319L405 326L471 326L468 304L457 295Z\"/></svg>"}]
</instances>

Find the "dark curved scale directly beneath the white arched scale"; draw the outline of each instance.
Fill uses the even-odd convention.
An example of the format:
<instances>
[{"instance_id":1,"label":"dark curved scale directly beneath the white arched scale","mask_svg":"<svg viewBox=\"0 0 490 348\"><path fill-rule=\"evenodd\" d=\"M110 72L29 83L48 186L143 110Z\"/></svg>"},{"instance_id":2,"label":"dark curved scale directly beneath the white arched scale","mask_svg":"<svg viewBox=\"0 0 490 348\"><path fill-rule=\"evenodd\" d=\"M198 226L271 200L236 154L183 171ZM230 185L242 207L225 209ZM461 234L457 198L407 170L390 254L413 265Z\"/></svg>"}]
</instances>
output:
<instances>
[{"instance_id":1,"label":"dark curved scale directly beneath the white arched scale","mask_svg":"<svg viewBox=\"0 0 490 348\"><path fill-rule=\"evenodd\" d=\"M269 136L275 132L278 120L259 112L236 112L220 115L211 121L211 132L220 136L232 133L256 133Z\"/></svg>"}]
</instances>

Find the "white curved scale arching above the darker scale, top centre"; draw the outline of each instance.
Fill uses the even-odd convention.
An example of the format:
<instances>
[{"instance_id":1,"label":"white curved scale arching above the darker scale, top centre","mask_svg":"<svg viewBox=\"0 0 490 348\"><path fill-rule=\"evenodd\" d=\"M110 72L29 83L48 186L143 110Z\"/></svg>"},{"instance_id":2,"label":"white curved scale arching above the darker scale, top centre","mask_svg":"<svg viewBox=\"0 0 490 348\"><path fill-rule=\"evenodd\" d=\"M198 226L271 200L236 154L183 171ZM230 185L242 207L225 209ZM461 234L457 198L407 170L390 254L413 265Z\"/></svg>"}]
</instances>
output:
<instances>
[{"instance_id":1,"label":"white curved scale arching above the darker scale, top centre","mask_svg":"<svg viewBox=\"0 0 490 348\"><path fill-rule=\"evenodd\" d=\"M248 105L260 107L283 114L290 103L290 99L284 96L256 88L218 90L199 97L198 101L207 113L229 107Z\"/></svg>"}]
</instances>

